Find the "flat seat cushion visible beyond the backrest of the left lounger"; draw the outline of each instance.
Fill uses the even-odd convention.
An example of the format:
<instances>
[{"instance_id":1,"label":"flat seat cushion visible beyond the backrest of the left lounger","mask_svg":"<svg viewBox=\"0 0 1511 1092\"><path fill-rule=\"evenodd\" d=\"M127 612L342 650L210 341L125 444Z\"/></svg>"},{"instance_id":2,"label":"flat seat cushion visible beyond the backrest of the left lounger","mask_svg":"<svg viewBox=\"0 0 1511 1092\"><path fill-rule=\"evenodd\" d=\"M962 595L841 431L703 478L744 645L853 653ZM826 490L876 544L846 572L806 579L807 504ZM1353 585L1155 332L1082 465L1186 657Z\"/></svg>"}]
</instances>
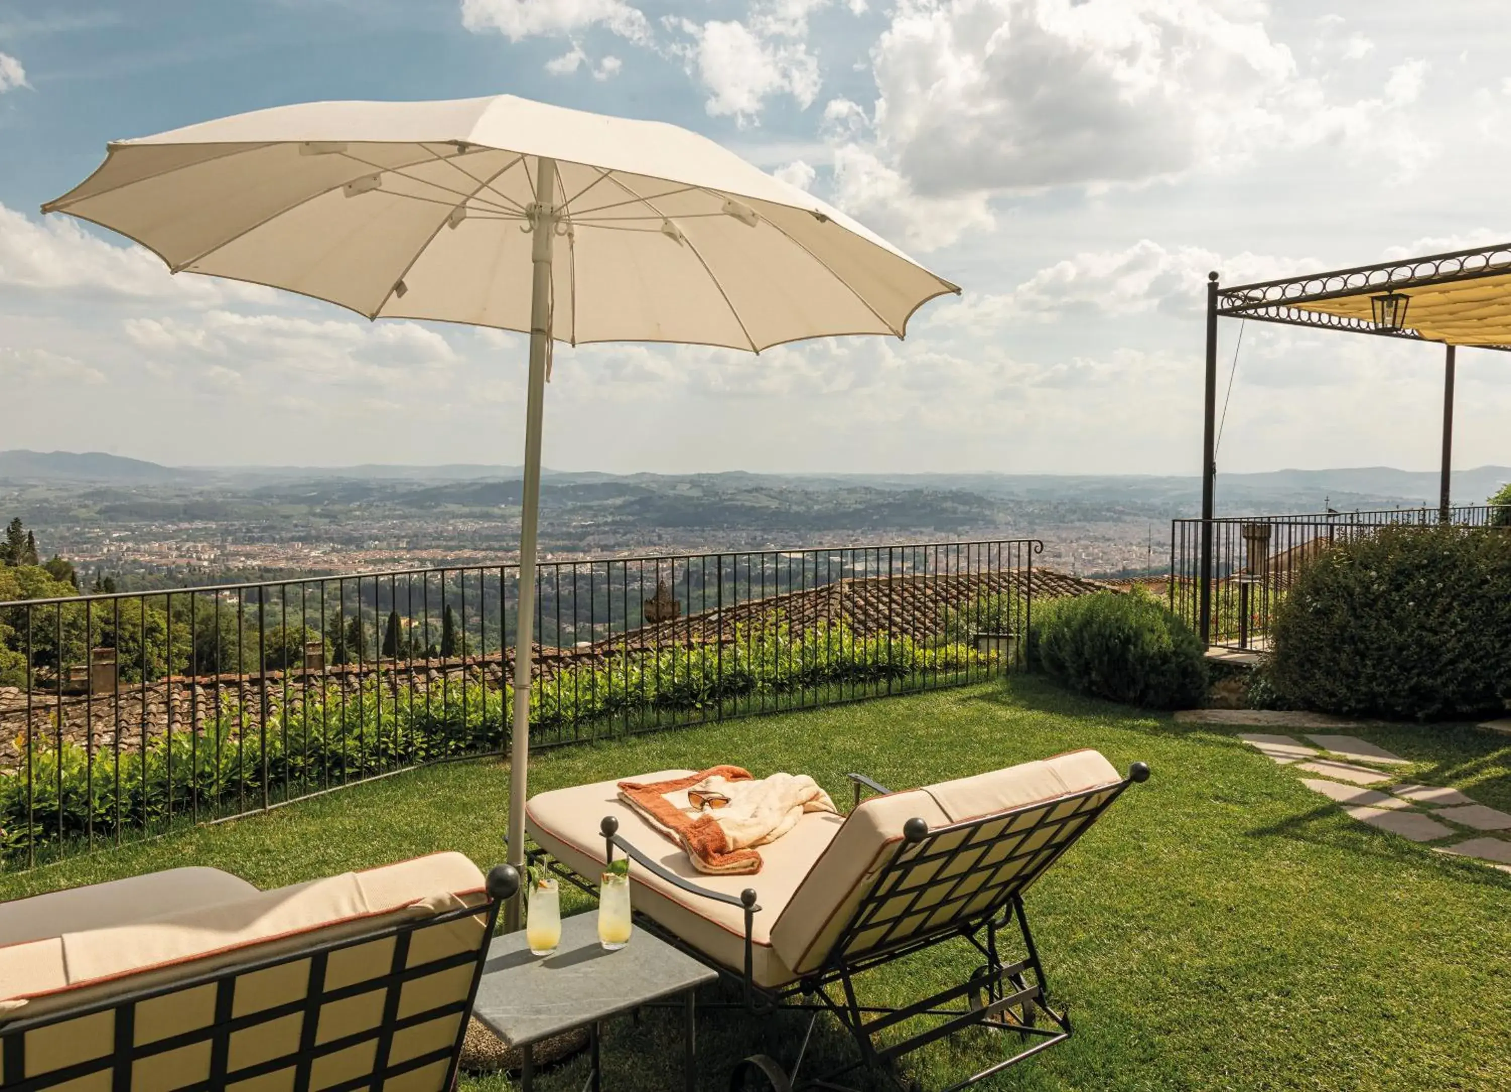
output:
<instances>
[{"instance_id":1,"label":"flat seat cushion visible beyond the backrest of the left lounger","mask_svg":"<svg viewBox=\"0 0 1511 1092\"><path fill-rule=\"evenodd\" d=\"M109 884L50 891L0 903L0 944L145 921L257 893L245 879L219 868L169 868Z\"/></svg>"}]
</instances>

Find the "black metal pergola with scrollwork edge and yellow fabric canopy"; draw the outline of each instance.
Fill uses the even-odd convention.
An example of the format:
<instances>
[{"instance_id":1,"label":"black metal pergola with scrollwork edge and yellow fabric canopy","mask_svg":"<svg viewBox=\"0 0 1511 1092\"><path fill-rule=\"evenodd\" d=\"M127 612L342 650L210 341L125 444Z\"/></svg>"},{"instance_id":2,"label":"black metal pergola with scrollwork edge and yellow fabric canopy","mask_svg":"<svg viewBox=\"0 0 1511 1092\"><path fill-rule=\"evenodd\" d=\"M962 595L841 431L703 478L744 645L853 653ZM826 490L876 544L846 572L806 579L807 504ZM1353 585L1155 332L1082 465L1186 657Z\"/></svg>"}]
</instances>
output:
<instances>
[{"instance_id":1,"label":"black metal pergola with scrollwork edge and yellow fabric canopy","mask_svg":"<svg viewBox=\"0 0 1511 1092\"><path fill-rule=\"evenodd\" d=\"M1201 440L1203 640L1212 624L1212 520L1216 492L1218 319L1337 329L1445 346L1438 514L1449 518L1454 366L1458 346L1511 352L1511 243L1429 254L1224 288L1207 279L1206 427Z\"/></svg>"}]
</instances>

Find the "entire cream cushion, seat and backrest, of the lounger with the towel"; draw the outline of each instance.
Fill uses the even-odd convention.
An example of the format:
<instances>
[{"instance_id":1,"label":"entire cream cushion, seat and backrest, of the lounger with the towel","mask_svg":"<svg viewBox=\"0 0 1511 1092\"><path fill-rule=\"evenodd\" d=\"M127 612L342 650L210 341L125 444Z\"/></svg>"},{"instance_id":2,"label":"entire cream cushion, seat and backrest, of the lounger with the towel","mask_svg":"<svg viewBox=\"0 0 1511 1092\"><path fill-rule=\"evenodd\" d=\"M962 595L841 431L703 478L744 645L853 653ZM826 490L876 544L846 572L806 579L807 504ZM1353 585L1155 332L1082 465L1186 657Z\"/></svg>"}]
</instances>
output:
<instances>
[{"instance_id":1,"label":"entire cream cushion, seat and backrest, of the lounger with the towel","mask_svg":"<svg viewBox=\"0 0 1511 1092\"><path fill-rule=\"evenodd\" d=\"M694 770L662 770L633 778L659 781ZM922 819L931 828L1034 804L1121 781L1095 751L1074 751L926 788L867 797L848 819L804 816L792 834L762 846L765 867L757 876L706 876L686 853L666 841L618 799L616 781L561 788L535 796L526 822L535 841L579 875L592 878L603 865L598 823L620 820L620 834L669 871L715 891L737 896L756 888L762 911L752 923L754 977L781 986L817 970L839 939L855 905L902 843L902 828ZM1020 822L1031 826L1034 817ZM638 909L718 962L739 971L745 961L743 914L736 906L698 899L663 879L633 870Z\"/></svg>"}]
</instances>

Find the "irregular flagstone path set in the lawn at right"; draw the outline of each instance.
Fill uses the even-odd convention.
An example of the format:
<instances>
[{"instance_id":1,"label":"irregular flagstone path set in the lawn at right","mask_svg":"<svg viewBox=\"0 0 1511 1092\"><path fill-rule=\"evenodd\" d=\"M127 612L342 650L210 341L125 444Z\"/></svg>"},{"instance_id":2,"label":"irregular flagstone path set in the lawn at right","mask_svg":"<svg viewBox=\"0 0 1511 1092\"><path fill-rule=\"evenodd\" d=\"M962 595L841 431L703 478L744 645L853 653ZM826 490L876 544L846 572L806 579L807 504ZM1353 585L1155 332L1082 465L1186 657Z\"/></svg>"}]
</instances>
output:
<instances>
[{"instance_id":1,"label":"irregular flagstone path set in the lawn at right","mask_svg":"<svg viewBox=\"0 0 1511 1092\"><path fill-rule=\"evenodd\" d=\"M1263 710L1192 710L1201 716L1177 713L1176 717L1200 719L1206 723L1284 723L1277 719L1253 719L1253 714L1260 711ZM1244 714L1250 719L1219 714ZM1310 713L1281 716L1316 717ZM1340 723L1333 717L1321 719L1328 723L1290 722L1287 726L1313 728ZM1511 814L1478 804L1473 797L1446 785L1390 784L1401 776L1401 767L1411 766L1408 758L1393 755L1357 736L1307 734L1306 739L1310 740L1312 746L1292 736L1241 733L1239 739L1272 763L1287 766L1298 773L1316 775L1301 778L1301 784L1339 804L1346 816L1381 831L1420 843L1458 838L1463 834L1461 828L1490 832L1454 844L1432 846L1432 849L1440 853L1473 858L1511 873ZM1343 758L1349 761L1342 761ZM1496 834L1506 837L1494 837Z\"/></svg>"}]
</instances>

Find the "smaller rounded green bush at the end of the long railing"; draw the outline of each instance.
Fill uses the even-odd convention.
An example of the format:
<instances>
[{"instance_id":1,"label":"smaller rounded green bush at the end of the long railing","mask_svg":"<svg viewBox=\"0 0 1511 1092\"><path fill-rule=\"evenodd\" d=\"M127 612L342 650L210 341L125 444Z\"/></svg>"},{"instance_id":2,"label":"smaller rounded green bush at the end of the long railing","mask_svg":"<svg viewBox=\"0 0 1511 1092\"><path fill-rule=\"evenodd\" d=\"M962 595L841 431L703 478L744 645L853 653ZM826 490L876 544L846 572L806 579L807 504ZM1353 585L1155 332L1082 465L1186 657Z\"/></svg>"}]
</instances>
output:
<instances>
[{"instance_id":1,"label":"smaller rounded green bush at the end of the long railing","mask_svg":"<svg viewBox=\"0 0 1511 1092\"><path fill-rule=\"evenodd\" d=\"M1073 690L1147 708L1207 695L1201 642L1142 592L1100 592L1035 607L1029 663Z\"/></svg>"}]
</instances>

